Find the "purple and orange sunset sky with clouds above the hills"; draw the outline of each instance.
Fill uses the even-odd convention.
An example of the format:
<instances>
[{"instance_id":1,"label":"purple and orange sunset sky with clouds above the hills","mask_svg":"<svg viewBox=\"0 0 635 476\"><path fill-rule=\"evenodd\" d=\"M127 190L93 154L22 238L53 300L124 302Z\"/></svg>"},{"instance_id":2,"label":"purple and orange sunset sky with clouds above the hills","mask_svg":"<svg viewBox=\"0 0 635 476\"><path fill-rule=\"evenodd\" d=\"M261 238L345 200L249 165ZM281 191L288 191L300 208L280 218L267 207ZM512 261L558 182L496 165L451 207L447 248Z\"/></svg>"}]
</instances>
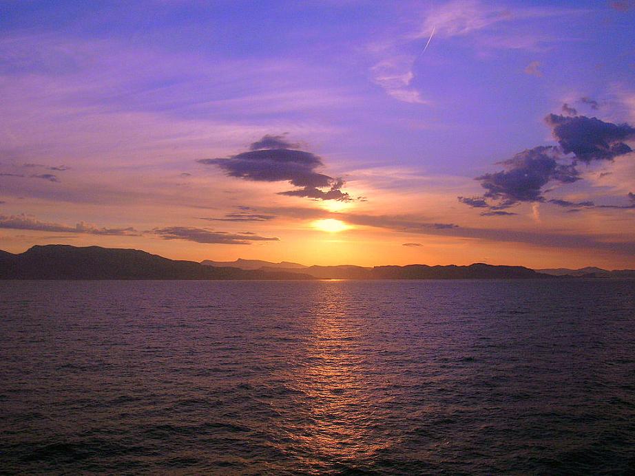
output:
<instances>
[{"instance_id":1,"label":"purple and orange sunset sky with clouds above the hills","mask_svg":"<svg viewBox=\"0 0 635 476\"><path fill-rule=\"evenodd\" d=\"M0 249L635 268L635 1L0 0Z\"/></svg>"}]
</instances>

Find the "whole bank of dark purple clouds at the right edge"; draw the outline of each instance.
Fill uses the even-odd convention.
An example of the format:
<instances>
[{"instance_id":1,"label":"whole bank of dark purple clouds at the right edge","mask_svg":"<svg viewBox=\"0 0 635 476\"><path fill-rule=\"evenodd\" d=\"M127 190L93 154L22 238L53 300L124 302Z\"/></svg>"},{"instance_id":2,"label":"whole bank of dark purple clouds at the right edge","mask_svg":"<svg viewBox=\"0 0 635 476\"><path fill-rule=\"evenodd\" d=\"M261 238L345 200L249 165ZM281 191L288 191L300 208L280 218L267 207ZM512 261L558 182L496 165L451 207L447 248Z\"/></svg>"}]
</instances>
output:
<instances>
[{"instance_id":1,"label":"whole bank of dark purple clouds at the right edge","mask_svg":"<svg viewBox=\"0 0 635 476\"><path fill-rule=\"evenodd\" d=\"M588 98L584 102L597 105ZM558 146L539 146L499 162L503 170L476 177L485 189L480 197L458 197L472 208L482 208L483 216L515 215L504 211L520 202L549 202L566 208L635 208L629 193L629 205L596 205L593 202L568 202L547 199L544 187L549 182L570 184L581 180L579 164L612 161L618 155L632 152L626 140L635 138L635 128L613 124L598 118L575 116L577 111L563 106L568 116L549 114L545 123L551 128Z\"/></svg>"}]
</instances>

